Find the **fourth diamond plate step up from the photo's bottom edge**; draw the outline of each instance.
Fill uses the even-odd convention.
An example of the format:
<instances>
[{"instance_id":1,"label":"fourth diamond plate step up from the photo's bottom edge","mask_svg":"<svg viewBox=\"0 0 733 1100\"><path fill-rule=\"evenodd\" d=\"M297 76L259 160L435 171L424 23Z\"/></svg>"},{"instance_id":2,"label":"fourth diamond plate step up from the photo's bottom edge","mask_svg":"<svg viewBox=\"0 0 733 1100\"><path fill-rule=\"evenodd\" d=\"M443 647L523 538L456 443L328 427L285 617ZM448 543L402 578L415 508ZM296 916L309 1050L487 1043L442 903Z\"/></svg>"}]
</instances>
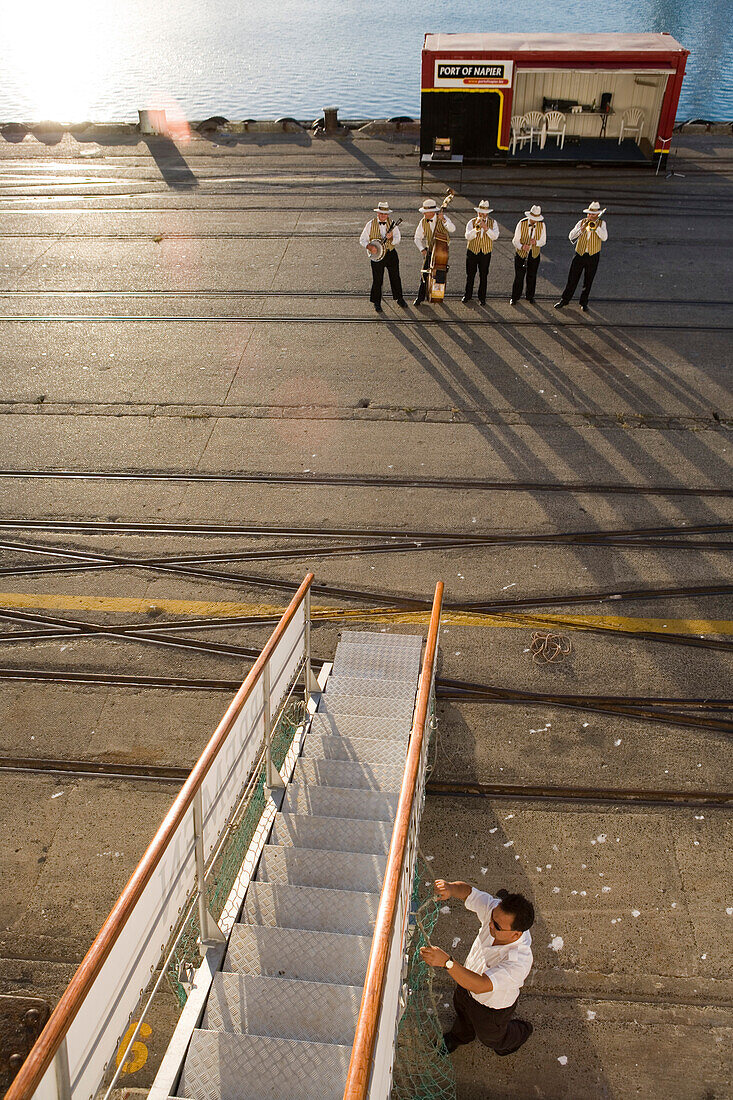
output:
<instances>
[{"instance_id":1,"label":"fourth diamond plate step up from the photo's bottom edge","mask_svg":"<svg viewBox=\"0 0 733 1100\"><path fill-rule=\"evenodd\" d=\"M274 882L250 882L243 920L269 927L310 928L371 936L376 920L379 893L357 890L316 890Z\"/></svg>"}]
</instances>

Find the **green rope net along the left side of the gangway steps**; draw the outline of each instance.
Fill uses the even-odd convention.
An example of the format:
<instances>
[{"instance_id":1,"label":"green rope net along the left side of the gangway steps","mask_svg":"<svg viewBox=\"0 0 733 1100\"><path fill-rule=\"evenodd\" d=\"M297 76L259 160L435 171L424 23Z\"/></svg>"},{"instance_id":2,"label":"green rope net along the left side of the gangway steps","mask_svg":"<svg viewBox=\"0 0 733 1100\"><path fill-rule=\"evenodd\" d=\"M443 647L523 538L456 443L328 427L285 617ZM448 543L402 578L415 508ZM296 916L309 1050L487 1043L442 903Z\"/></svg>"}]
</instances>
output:
<instances>
[{"instance_id":1,"label":"green rope net along the left side of the gangway steps","mask_svg":"<svg viewBox=\"0 0 733 1100\"><path fill-rule=\"evenodd\" d=\"M293 744L295 732L303 722L305 713L303 700L291 702L283 711L271 738L272 761L275 768L282 768ZM256 773L251 777L249 787L250 794L244 804L239 807L234 827L207 875L207 900L209 912L215 921L218 921L223 912L231 888L244 862L244 857L266 805L264 758L258 762ZM194 906L167 970L168 982L178 998L180 1008L184 1007L188 998L190 976L201 961L199 939L198 909Z\"/></svg>"}]
</instances>

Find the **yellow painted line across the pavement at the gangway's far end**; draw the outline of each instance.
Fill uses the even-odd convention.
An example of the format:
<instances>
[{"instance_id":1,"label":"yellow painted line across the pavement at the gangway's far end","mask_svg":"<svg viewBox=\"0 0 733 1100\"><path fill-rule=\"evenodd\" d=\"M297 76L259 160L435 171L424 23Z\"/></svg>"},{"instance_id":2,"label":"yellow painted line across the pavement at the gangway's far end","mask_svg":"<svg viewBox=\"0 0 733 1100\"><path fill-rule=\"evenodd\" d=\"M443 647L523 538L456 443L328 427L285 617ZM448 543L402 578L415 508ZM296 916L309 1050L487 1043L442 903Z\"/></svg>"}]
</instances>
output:
<instances>
[{"instance_id":1,"label":"yellow painted line across the pavement at the gangway's far end","mask_svg":"<svg viewBox=\"0 0 733 1100\"><path fill-rule=\"evenodd\" d=\"M145 615L152 610L171 615L196 617L272 618L283 614L284 606L275 604L234 603L208 600L144 600L129 596L77 596L66 593L41 594L24 592L0 592L0 607L36 610L107 612L114 614ZM380 623L423 626L429 622L430 613L405 612L390 607L313 607L314 619ZM606 630L658 631L660 634L722 634L733 635L733 622L729 619L674 619L632 618L623 615L555 615L545 613L477 614L472 612L446 612L442 622L447 626L479 626L513 629L527 627L558 626L566 629L600 627Z\"/></svg>"}]
</instances>

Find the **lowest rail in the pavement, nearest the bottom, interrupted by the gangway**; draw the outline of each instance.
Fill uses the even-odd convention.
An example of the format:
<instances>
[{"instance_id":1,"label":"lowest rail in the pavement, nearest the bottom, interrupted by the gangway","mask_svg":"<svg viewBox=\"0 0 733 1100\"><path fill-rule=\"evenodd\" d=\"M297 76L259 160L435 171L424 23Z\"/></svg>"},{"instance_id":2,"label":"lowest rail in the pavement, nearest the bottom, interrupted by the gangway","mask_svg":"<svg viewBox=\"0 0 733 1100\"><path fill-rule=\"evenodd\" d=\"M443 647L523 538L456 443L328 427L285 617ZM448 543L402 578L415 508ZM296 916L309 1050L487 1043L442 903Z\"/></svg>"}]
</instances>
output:
<instances>
[{"instance_id":1,"label":"lowest rail in the pavement, nearest the bottom, interrupted by the gangway","mask_svg":"<svg viewBox=\"0 0 733 1100\"><path fill-rule=\"evenodd\" d=\"M0 773L31 776L68 776L74 779L142 780L157 783L180 784L188 778L189 769L165 765L131 765L110 760L54 760L36 757L0 756ZM623 806L698 809L700 806L726 809L733 802L733 792L724 791L665 791L648 789L595 789L572 787L528 787L507 783L437 782L429 780L427 793L442 798L505 799L529 802L603 803Z\"/></svg>"}]
</instances>

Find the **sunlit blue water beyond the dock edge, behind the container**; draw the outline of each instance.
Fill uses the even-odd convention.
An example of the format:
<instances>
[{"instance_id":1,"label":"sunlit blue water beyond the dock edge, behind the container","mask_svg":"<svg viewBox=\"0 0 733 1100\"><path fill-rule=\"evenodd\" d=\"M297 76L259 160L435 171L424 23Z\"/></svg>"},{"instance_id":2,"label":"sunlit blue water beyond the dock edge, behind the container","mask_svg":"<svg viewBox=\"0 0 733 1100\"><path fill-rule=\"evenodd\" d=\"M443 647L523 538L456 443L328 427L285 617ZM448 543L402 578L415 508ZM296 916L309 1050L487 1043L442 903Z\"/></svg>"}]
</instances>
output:
<instances>
[{"instance_id":1,"label":"sunlit blue water beyond the dock edge, behind the container","mask_svg":"<svg viewBox=\"0 0 733 1100\"><path fill-rule=\"evenodd\" d=\"M419 114L425 32L669 31L678 119L733 119L732 0L0 0L0 121Z\"/></svg>"}]
</instances>

